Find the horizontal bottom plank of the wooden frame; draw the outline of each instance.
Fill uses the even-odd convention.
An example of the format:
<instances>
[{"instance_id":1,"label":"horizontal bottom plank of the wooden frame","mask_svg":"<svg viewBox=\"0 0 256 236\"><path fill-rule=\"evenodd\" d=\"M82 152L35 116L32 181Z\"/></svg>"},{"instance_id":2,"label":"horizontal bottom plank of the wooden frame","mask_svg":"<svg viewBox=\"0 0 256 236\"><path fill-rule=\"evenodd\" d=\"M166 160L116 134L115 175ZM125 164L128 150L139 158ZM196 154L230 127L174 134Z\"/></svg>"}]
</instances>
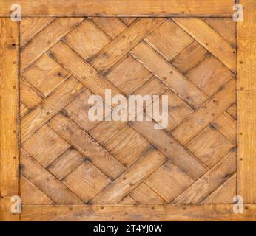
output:
<instances>
[{"instance_id":1,"label":"horizontal bottom plank of the wooden frame","mask_svg":"<svg viewBox=\"0 0 256 236\"><path fill-rule=\"evenodd\" d=\"M98 204L87 206L24 205L21 221L256 221L256 205L233 204Z\"/></svg>"}]
</instances>

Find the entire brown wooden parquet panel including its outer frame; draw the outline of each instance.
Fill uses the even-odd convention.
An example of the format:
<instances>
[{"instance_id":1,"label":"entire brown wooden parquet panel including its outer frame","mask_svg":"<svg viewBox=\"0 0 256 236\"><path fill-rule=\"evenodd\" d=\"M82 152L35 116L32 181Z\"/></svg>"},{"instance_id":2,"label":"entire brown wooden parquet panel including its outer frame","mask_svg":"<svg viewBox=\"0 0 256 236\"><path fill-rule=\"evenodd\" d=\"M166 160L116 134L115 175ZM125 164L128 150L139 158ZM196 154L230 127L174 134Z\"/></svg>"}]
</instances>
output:
<instances>
[{"instance_id":1,"label":"entire brown wooden parquet panel including its outer frame","mask_svg":"<svg viewBox=\"0 0 256 236\"><path fill-rule=\"evenodd\" d=\"M10 18L10 4L1 1L1 17L8 8ZM255 220L252 1L242 23L231 0L19 4L21 23L0 18L13 41L0 39L0 183L16 175L0 187L1 220L19 219L9 192L21 195L24 221ZM123 104L129 95L167 95L168 124L155 129L158 118L146 116L153 102L141 111L152 121L107 121L118 111L107 103L92 122L88 100L97 94L105 105L106 89ZM15 140L16 156L3 158ZM232 210L235 195L247 204L243 214Z\"/></svg>"}]
</instances>

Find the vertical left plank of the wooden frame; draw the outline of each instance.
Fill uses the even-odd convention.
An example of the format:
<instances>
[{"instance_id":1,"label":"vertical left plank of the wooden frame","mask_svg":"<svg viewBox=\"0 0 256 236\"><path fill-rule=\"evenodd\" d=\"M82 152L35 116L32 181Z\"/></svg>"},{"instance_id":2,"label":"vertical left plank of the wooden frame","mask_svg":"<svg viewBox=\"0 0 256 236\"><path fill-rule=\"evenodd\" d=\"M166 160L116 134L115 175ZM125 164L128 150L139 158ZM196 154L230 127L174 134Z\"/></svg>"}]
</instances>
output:
<instances>
[{"instance_id":1,"label":"vertical left plank of the wooden frame","mask_svg":"<svg viewBox=\"0 0 256 236\"><path fill-rule=\"evenodd\" d=\"M18 221L10 197L18 187L18 24L0 18L0 198L1 219Z\"/></svg>"}]
</instances>

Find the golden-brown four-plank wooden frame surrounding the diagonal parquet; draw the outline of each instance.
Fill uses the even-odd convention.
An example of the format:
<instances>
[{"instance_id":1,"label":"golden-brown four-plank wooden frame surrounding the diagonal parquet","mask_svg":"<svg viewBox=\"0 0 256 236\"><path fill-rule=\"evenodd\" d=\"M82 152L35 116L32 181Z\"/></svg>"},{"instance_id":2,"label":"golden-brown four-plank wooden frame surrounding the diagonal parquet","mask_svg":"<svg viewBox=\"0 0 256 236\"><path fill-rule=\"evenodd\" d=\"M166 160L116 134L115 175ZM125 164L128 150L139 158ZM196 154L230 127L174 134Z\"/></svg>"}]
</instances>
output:
<instances>
[{"instance_id":1,"label":"golden-brown four-plank wooden frame surrounding the diagonal parquet","mask_svg":"<svg viewBox=\"0 0 256 236\"><path fill-rule=\"evenodd\" d=\"M231 17L234 0L17 0L0 2L0 221L18 221L10 198L19 194L18 178L18 23L10 6L21 4L22 16L211 16ZM139 2L139 3L138 3ZM138 7L138 4L140 7ZM240 0L238 22L238 195L244 213L232 204L189 205L23 205L21 221L256 221L256 1ZM117 7L118 6L118 7ZM75 10L74 10L75 8ZM99 10L100 9L100 10ZM102 11L102 9L105 9ZM253 67L254 66L254 67ZM246 104L246 105L245 105ZM250 186L250 187L248 187ZM59 213L59 214L57 214Z\"/></svg>"}]
</instances>

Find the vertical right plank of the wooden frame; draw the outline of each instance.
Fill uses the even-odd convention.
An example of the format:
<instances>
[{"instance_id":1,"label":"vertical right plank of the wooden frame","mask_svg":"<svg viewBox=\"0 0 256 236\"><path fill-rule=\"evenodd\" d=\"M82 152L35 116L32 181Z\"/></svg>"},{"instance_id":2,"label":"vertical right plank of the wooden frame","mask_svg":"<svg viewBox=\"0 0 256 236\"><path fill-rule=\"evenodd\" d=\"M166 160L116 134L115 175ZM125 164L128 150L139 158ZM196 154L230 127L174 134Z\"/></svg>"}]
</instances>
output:
<instances>
[{"instance_id":1,"label":"vertical right plank of the wooden frame","mask_svg":"<svg viewBox=\"0 0 256 236\"><path fill-rule=\"evenodd\" d=\"M256 1L240 1L238 22L238 195L256 203Z\"/></svg>"}]
</instances>

